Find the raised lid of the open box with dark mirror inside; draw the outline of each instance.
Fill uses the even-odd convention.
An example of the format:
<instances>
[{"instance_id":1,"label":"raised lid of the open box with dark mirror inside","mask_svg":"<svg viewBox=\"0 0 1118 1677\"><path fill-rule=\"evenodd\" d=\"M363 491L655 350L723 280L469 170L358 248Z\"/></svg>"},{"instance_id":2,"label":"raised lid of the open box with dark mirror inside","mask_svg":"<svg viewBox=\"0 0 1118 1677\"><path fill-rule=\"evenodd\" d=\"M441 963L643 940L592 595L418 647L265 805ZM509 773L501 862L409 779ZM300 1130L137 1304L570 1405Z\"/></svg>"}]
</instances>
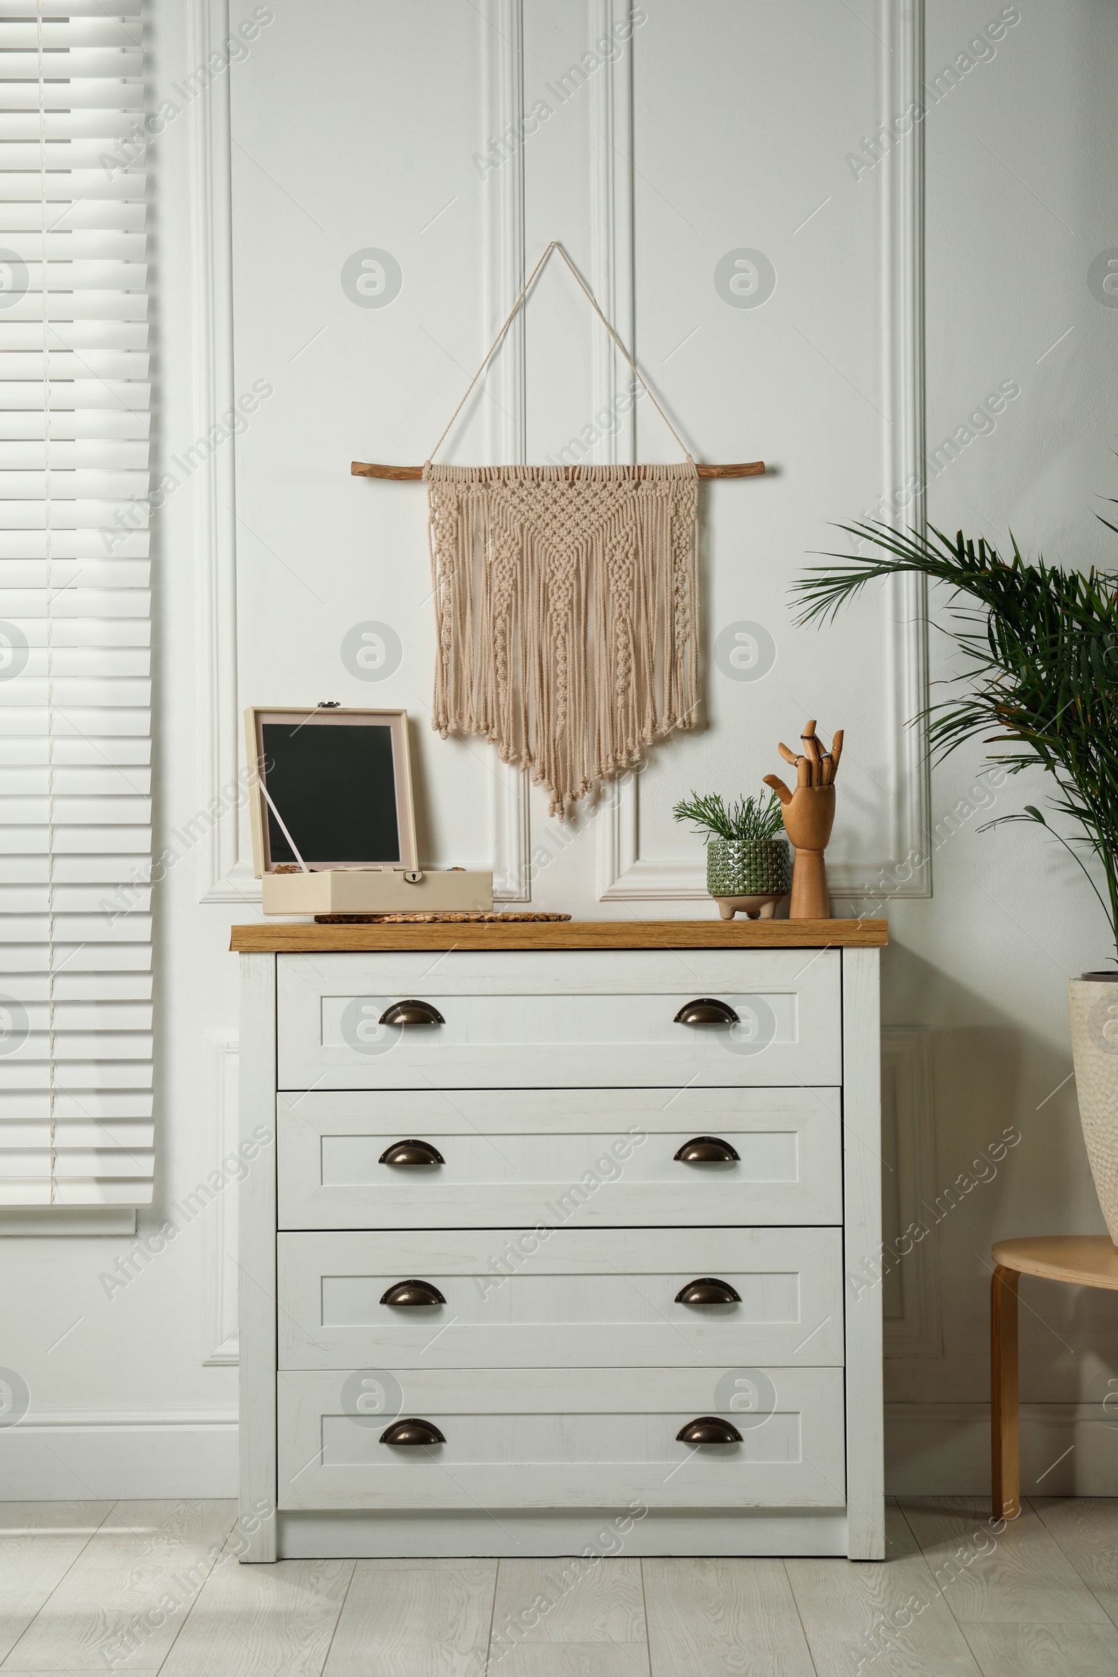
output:
<instances>
[{"instance_id":1,"label":"raised lid of the open box with dark mirror inside","mask_svg":"<svg viewBox=\"0 0 1118 1677\"><path fill-rule=\"evenodd\" d=\"M419 867L407 711L250 706L253 874Z\"/></svg>"}]
</instances>

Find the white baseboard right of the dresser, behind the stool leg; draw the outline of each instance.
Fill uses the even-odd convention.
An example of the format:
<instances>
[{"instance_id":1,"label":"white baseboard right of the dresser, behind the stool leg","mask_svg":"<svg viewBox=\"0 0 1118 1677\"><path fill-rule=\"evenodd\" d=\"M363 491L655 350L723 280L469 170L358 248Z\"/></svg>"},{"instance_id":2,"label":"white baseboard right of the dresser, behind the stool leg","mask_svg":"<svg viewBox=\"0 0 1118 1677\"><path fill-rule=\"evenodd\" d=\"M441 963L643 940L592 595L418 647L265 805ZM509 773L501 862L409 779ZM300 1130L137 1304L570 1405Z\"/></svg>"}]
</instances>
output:
<instances>
[{"instance_id":1,"label":"white baseboard right of the dresser, behind the stool leg","mask_svg":"<svg viewBox=\"0 0 1118 1677\"><path fill-rule=\"evenodd\" d=\"M1116 1442L1100 1404L1022 1404L1022 1494L1118 1496ZM989 1404L887 1404L885 1491L989 1496Z\"/></svg>"}]
</instances>

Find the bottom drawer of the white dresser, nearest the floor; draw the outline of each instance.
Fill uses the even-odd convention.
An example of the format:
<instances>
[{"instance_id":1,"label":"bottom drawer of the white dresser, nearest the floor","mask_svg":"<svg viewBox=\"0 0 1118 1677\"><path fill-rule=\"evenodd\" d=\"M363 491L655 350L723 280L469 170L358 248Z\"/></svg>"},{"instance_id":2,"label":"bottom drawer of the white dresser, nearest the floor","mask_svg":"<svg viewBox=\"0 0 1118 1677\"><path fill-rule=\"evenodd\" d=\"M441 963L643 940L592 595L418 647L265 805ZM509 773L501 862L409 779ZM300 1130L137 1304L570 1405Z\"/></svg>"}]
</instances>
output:
<instances>
[{"instance_id":1,"label":"bottom drawer of the white dresser, nearest the floor","mask_svg":"<svg viewBox=\"0 0 1118 1677\"><path fill-rule=\"evenodd\" d=\"M743 1377L766 1394L759 1425L729 1407ZM367 1390L387 1392L380 1414L354 1412L359 1378L278 1375L280 1508L499 1513L845 1499L838 1368L377 1370ZM446 1442L382 1444L399 1415L432 1422ZM679 1442L699 1415L732 1420L741 1444Z\"/></svg>"}]
</instances>

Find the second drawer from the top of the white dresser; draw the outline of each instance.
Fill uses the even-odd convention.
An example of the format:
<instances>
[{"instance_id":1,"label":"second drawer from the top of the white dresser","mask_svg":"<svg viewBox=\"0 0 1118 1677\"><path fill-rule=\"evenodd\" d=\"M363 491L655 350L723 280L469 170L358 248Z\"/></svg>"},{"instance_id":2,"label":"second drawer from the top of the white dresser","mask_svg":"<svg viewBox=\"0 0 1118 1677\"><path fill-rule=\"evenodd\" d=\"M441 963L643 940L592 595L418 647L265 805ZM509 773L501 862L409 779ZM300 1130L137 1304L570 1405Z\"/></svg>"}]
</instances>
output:
<instances>
[{"instance_id":1,"label":"second drawer from the top of the white dresser","mask_svg":"<svg viewBox=\"0 0 1118 1677\"><path fill-rule=\"evenodd\" d=\"M841 1223L838 1088L280 1095L287 1229ZM684 1162L697 1137L727 1162ZM382 1164L422 1140L436 1166Z\"/></svg>"}]
</instances>

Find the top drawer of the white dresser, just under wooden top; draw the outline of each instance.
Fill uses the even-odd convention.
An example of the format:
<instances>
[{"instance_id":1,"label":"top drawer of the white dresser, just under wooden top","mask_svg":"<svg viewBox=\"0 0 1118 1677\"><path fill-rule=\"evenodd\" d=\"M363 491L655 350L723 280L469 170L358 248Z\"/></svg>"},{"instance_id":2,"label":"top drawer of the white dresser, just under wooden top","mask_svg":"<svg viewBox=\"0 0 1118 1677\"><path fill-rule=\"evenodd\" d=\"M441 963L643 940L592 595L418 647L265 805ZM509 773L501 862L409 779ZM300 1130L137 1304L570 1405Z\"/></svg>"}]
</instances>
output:
<instances>
[{"instance_id":1,"label":"top drawer of the white dresser, just under wooden top","mask_svg":"<svg viewBox=\"0 0 1118 1677\"><path fill-rule=\"evenodd\" d=\"M278 1087L841 1082L835 949L278 956ZM738 1023L675 1023L697 998ZM441 1023L380 1023L417 999Z\"/></svg>"}]
</instances>

